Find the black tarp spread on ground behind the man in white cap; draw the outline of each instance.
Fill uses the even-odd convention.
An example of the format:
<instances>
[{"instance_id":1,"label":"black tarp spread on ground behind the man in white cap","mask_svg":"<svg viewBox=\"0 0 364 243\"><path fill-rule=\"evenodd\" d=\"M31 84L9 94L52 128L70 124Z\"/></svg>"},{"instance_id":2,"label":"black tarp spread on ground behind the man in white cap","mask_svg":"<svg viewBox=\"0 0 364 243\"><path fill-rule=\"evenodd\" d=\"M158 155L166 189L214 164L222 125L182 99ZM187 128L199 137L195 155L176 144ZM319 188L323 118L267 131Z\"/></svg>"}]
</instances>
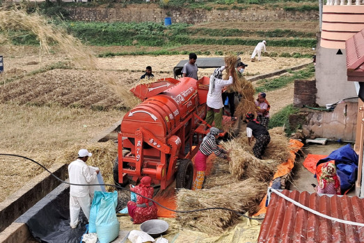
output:
<instances>
[{"instance_id":1,"label":"black tarp spread on ground behind the man in white cap","mask_svg":"<svg viewBox=\"0 0 364 243\"><path fill-rule=\"evenodd\" d=\"M25 223L39 242L81 242L86 231L87 219L79 213L81 222L77 228L70 227L70 186L62 183L20 216L16 222Z\"/></svg>"}]
</instances>

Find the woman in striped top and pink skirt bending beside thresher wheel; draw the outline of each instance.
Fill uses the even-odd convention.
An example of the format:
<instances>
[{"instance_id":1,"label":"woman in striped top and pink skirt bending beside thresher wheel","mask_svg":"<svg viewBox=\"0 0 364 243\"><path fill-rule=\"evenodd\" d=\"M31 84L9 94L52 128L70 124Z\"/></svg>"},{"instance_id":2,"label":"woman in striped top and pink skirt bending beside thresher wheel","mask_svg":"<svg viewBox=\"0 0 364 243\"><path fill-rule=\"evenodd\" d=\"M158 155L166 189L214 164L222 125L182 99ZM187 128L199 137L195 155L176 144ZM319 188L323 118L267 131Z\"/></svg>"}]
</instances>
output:
<instances>
[{"instance_id":1,"label":"woman in striped top and pink skirt bending beside thresher wheel","mask_svg":"<svg viewBox=\"0 0 364 243\"><path fill-rule=\"evenodd\" d=\"M198 190L203 187L203 181L205 180L206 160L210 154L215 153L216 156L224 158L230 161L228 156L229 151L221 149L216 144L216 139L219 137L219 129L212 127L209 129L209 133L203 138L203 142L200 145L200 149L195 156L195 168L197 176L193 182L192 190Z\"/></svg>"}]
</instances>

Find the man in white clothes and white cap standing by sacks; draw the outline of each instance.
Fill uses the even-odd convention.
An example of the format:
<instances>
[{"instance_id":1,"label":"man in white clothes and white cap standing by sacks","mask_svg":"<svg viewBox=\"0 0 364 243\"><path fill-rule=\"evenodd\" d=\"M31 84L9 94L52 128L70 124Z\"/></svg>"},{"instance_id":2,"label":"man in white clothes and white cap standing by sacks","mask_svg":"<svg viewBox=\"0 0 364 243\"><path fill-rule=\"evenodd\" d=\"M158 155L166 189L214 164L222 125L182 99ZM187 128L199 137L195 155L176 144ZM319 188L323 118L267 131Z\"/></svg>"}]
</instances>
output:
<instances>
[{"instance_id":1,"label":"man in white clothes and white cap standing by sacks","mask_svg":"<svg viewBox=\"0 0 364 243\"><path fill-rule=\"evenodd\" d=\"M86 165L88 157L92 156L87 149L80 149L77 160L68 165L68 176L70 183L83 185L70 185L70 226L76 228L79 224L79 210L82 208L84 215L90 217L90 188L88 184L94 181L99 169L90 169Z\"/></svg>"}]
</instances>

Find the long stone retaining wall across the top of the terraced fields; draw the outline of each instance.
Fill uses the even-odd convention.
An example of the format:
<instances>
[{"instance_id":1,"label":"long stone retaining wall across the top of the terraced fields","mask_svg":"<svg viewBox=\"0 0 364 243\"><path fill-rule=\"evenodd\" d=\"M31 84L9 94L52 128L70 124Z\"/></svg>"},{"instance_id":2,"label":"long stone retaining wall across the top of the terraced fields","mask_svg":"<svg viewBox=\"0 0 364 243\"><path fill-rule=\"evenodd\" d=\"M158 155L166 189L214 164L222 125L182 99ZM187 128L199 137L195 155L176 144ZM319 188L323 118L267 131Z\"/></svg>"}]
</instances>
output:
<instances>
[{"instance_id":1,"label":"long stone retaining wall across the top of the terraced fields","mask_svg":"<svg viewBox=\"0 0 364 243\"><path fill-rule=\"evenodd\" d=\"M86 22L164 22L165 17L171 17L173 23L197 24L201 22L273 22L273 21L317 21L319 12L293 12L283 8L276 10L205 10L189 8L159 8L157 4L127 5L125 8L68 8L70 18Z\"/></svg>"}]
</instances>

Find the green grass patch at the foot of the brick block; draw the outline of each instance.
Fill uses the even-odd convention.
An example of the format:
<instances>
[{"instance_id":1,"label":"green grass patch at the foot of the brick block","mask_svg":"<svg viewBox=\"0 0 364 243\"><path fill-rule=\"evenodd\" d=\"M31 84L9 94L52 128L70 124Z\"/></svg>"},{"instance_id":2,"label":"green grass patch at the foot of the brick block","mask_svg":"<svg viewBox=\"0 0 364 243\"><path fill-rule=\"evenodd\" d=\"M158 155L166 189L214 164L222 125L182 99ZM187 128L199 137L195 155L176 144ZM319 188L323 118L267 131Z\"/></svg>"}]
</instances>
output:
<instances>
[{"instance_id":1,"label":"green grass patch at the foot of the brick block","mask_svg":"<svg viewBox=\"0 0 364 243\"><path fill-rule=\"evenodd\" d=\"M269 125L268 128L275 128L277 126L282 127L285 126L285 133L287 135L290 135L291 133L294 133L297 128L299 127L291 127L290 123L288 121L288 118L291 114L294 114L296 112L299 112L299 108L294 108L293 105L288 105L282 110L278 111L276 114L274 114L271 119L269 119Z\"/></svg>"}]
</instances>

